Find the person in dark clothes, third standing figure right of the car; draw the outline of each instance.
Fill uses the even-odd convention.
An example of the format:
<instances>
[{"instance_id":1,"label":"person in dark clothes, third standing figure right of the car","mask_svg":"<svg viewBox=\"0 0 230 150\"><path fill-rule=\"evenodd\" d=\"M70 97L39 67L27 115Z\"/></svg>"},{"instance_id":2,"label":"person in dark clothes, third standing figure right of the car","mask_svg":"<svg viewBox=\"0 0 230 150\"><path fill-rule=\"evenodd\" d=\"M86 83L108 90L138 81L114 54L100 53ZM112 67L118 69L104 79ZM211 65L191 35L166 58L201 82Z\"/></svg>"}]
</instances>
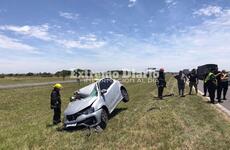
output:
<instances>
[{"instance_id":1,"label":"person in dark clothes, third standing figure right of the car","mask_svg":"<svg viewBox=\"0 0 230 150\"><path fill-rule=\"evenodd\" d=\"M197 85L199 83L198 76L196 74L196 69L193 69L191 73L188 74L189 79L189 95L192 94L192 88L194 87L196 90L196 94L198 93Z\"/></svg>"}]
</instances>

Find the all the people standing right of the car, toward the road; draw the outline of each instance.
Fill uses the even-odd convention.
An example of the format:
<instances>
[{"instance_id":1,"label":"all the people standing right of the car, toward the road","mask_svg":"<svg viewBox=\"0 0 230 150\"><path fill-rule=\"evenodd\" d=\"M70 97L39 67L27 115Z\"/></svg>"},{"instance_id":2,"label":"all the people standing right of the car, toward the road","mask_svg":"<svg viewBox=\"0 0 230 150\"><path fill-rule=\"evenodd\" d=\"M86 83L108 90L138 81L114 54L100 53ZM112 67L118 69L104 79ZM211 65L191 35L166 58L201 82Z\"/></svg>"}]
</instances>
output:
<instances>
[{"instance_id":1,"label":"all the people standing right of the car, toward the road","mask_svg":"<svg viewBox=\"0 0 230 150\"><path fill-rule=\"evenodd\" d=\"M174 76L177 80L178 84L178 93L181 97L185 96L185 84L187 80L189 81L189 95L192 94L193 88L195 88L196 94L198 93L198 84L199 78L197 75L196 69L192 69L192 71L185 75L183 71L180 71L178 75ZM228 73L223 71L218 71L217 68L211 69L207 74L205 74L203 78L204 82L204 95L209 93L211 103L215 103L215 95L217 91L217 97L219 103L221 103L222 98L221 95L223 93L223 100L226 100L226 94L228 91ZM165 73L164 69L159 70L159 77L157 79L157 87L158 87L158 98L163 99L163 91L166 87Z\"/></svg>"}]
</instances>

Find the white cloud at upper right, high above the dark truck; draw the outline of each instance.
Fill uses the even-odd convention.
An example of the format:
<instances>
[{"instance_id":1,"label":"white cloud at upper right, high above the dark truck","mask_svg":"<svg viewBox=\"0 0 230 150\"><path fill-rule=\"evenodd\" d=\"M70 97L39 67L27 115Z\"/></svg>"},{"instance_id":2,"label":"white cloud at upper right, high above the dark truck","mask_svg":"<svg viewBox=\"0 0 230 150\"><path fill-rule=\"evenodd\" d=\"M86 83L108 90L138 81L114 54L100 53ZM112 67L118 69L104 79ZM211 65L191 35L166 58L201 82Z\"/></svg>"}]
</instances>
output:
<instances>
[{"instance_id":1,"label":"white cloud at upper right, high above the dark truck","mask_svg":"<svg viewBox=\"0 0 230 150\"><path fill-rule=\"evenodd\" d=\"M193 12L198 16L220 16L223 14L223 8L220 6L207 6Z\"/></svg>"}]
</instances>

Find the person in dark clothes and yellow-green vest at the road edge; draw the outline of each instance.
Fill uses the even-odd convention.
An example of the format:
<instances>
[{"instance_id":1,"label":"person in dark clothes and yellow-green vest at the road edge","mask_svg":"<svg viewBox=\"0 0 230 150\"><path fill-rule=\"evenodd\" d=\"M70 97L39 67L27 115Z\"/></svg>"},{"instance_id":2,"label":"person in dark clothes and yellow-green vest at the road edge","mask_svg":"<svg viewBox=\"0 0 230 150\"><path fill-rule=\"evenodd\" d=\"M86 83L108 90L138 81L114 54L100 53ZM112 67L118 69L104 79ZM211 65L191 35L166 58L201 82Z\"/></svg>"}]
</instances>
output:
<instances>
[{"instance_id":1,"label":"person in dark clothes and yellow-green vest at the road edge","mask_svg":"<svg viewBox=\"0 0 230 150\"><path fill-rule=\"evenodd\" d=\"M210 97L210 101L211 103L215 103L215 92L216 92L216 88L217 88L217 80L216 80L216 76L215 73L216 69L212 69L207 78L205 79L205 82L207 83L207 87L208 87L208 93L209 93L209 97Z\"/></svg>"}]
</instances>

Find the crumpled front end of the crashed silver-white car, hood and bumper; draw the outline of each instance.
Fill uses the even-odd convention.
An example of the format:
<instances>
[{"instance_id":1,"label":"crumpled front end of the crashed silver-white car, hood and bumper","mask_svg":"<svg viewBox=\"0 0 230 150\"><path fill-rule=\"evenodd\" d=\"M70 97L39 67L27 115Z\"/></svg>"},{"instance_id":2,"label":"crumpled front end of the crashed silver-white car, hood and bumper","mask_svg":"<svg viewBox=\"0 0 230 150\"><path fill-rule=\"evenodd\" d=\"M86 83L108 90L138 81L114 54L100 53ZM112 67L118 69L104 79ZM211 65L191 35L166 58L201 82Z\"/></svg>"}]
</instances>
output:
<instances>
[{"instance_id":1,"label":"crumpled front end of the crashed silver-white car, hood and bumper","mask_svg":"<svg viewBox=\"0 0 230 150\"><path fill-rule=\"evenodd\" d=\"M80 95L79 95L80 94ZM77 92L77 97L71 101L64 112L64 127L97 126L101 121L101 107L98 108L100 102L100 95L98 94L98 87L96 84L91 84L80 89ZM76 93L75 93L76 96Z\"/></svg>"}]
</instances>

